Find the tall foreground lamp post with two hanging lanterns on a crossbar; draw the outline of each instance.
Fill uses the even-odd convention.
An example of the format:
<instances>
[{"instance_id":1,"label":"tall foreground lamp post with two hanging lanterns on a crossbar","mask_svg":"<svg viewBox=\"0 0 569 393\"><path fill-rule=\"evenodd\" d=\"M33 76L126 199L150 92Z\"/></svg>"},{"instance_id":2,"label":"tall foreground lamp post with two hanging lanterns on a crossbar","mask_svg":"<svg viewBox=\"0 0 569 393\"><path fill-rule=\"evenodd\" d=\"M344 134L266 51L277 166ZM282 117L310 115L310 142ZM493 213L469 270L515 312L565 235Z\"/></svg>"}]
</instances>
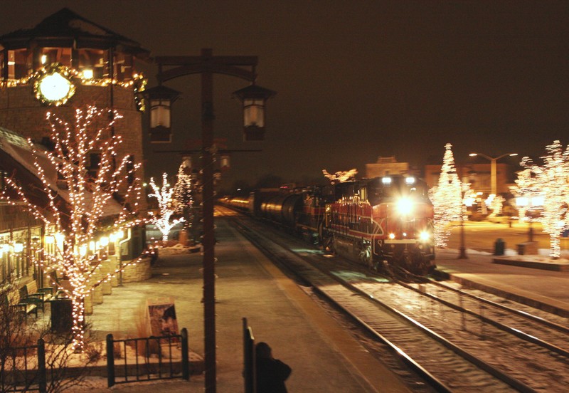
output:
<instances>
[{"instance_id":1,"label":"tall foreground lamp post with two hanging lanterns on a crossbar","mask_svg":"<svg viewBox=\"0 0 569 393\"><path fill-rule=\"evenodd\" d=\"M255 85L257 73L257 56L213 56L210 48L201 50L201 56L157 56L154 62L159 66L157 78L159 86L147 90L147 96L152 102L157 93L161 103L154 108L161 114L170 115L168 98L174 98L171 90L164 93L161 83L184 75L201 75L201 153L203 171L203 332L204 332L204 363L205 363L205 392L216 392L216 293L215 293L215 255L213 233L213 155L216 149L213 145L213 74L220 73L248 80L252 83L249 88L234 93L243 102L244 139L262 140L265 132L265 101L275 95L275 92ZM164 68L168 68L164 70ZM157 91L156 91L157 90ZM151 106L150 117L153 118ZM158 114L156 114L158 115ZM154 117L155 119L159 117ZM156 122L156 131L169 132L169 120ZM153 127L150 127L152 134ZM151 138L152 139L152 138ZM166 140L161 135L161 140Z\"/></svg>"}]
</instances>

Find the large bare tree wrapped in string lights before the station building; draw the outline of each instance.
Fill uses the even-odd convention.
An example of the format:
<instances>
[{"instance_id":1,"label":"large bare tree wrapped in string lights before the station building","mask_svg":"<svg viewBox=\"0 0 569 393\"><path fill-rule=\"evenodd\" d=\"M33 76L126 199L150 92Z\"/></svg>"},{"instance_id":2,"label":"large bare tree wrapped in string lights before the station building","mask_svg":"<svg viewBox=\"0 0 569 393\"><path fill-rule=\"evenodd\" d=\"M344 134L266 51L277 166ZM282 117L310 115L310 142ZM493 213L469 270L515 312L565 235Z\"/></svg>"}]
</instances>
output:
<instances>
[{"instance_id":1,"label":"large bare tree wrapped in string lights before the station building","mask_svg":"<svg viewBox=\"0 0 569 393\"><path fill-rule=\"evenodd\" d=\"M116 150L122 140L111 130L115 120L121 116L114 112L111 116L114 120L109 120L109 115L109 110L89 106L85 110L75 110L75 120L66 122L48 112L53 151L43 150L28 140L33 165L43 183L46 205L34 204L37 195L30 195L29 190L21 188L16 179L6 179L6 186L17 196L9 196L7 189L2 192L4 199L11 204L21 206L23 202L23 206L43 221L46 235L57 239L52 251L37 250L43 253L45 261L34 262L40 266L45 263L58 273L59 278L69 279L69 287L60 286L59 290L73 303L72 333L76 351L83 351L85 347L85 297L119 273L117 270L96 279L95 272L102 259L100 250L90 247L90 244L102 231L112 233L139 224L135 212L141 189L134 176L140 165L130 162L129 157L124 157L117 164ZM96 174L85 169L92 152L100 154ZM124 197L122 204L113 199L119 193ZM36 253L31 253L32 258L34 255ZM124 263L122 268L139 262L141 258Z\"/></svg>"}]
</instances>

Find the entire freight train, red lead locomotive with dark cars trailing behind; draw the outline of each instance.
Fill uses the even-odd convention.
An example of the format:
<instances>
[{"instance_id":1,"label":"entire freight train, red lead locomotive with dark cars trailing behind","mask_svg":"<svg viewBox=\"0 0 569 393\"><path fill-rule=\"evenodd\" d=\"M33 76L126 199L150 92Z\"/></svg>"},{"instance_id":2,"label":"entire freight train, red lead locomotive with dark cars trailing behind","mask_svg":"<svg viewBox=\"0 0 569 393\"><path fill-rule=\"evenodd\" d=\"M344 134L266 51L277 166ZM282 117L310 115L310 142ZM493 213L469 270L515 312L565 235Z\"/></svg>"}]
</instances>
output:
<instances>
[{"instance_id":1,"label":"entire freight train, red lead locomotive with dark cars trailing behind","mask_svg":"<svg viewBox=\"0 0 569 393\"><path fill-rule=\"evenodd\" d=\"M221 204L292 231L375 271L435 270L434 209L427 184L387 175L329 186L257 189Z\"/></svg>"}]
</instances>

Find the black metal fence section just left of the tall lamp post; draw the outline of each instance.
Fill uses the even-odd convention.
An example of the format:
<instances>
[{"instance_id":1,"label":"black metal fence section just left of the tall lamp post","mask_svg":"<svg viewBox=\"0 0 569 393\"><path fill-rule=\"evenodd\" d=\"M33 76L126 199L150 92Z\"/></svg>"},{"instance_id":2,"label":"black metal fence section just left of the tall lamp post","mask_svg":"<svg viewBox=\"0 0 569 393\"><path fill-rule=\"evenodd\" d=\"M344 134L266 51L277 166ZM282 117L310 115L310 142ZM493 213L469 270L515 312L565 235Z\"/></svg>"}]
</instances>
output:
<instances>
[{"instance_id":1,"label":"black metal fence section just left of the tall lamp post","mask_svg":"<svg viewBox=\"0 0 569 393\"><path fill-rule=\"evenodd\" d=\"M114 340L107 335L107 385L190 379L188 330L179 335Z\"/></svg>"}]
</instances>

